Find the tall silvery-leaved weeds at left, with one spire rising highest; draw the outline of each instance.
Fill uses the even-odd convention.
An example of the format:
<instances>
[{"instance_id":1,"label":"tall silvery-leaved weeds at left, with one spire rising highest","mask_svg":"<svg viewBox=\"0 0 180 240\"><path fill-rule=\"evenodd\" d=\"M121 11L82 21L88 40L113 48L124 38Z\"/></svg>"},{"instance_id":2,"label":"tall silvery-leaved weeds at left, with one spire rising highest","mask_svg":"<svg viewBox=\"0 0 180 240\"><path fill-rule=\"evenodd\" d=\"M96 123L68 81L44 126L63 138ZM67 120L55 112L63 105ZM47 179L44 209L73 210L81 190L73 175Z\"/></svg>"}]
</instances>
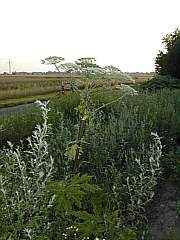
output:
<instances>
[{"instance_id":1,"label":"tall silvery-leaved weeds at left, with one spire rising highest","mask_svg":"<svg viewBox=\"0 0 180 240\"><path fill-rule=\"evenodd\" d=\"M49 109L48 102L37 103L44 122L28 138L28 150L14 148L9 142L9 148L1 152L0 200L4 213L1 224L11 226L9 236L15 239L36 236L36 230L45 222L43 214L49 204L45 200L46 185L53 170L46 142L50 128L47 123Z\"/></svg>"}]
</instances>

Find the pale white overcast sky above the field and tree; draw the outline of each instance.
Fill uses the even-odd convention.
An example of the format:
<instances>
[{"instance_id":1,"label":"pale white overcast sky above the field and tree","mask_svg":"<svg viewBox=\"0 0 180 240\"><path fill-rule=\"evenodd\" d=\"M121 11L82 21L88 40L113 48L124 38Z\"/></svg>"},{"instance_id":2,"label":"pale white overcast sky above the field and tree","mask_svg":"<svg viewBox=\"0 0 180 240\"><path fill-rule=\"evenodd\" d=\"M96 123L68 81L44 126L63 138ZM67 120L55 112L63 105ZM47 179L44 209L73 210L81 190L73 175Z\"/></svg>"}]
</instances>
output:
<instances>
[{"instance_id":1,"label":"pale white overcast sky above the field and tree","mask_svg":"<svg viewBox=\"0 0 180 240\"><path fill-rule=\"evenodd\" d=\"M161 39L180 27L180 0L0 0L0 72L54 70L41 59L95 57L154 71Z\"/></svg>"}]
</instances>

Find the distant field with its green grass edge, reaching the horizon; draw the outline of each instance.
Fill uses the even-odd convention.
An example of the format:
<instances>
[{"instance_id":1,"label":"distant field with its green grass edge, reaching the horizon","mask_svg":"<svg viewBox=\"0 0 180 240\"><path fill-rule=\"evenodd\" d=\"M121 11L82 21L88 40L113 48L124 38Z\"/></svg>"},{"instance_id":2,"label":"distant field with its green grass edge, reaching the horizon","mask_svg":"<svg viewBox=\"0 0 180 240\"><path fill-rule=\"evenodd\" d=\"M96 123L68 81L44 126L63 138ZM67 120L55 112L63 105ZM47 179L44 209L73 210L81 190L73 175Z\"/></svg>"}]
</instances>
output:
<instances>
[{"instance_id":1,"label":"distant field with its green grass edge, reaching the horizon","mask_svg":"<svg viewBox=\"0 0 180 240\"><path fill-rule=\"evenodd\" d=\"M141 83L152 78L150 74L132 74L136 83ZM0 75L0 106L11 105L18 102L33 101L35 96L50 96L52 93L58 93L63 79L65 89L70 89L70 76L57 75ZM73 76L72 79L77 83L79 88L83 89L84 83L81 76ZM98 78L98 86L105 84L105 79ZM124 83L132 84L132 81L122 81L112 79L111 85ZM20 99L17 101L17 99ZM25 100L27 99L27 101ZM14 105L14 104L12 104Z\"/></svg>"}]
</instances>

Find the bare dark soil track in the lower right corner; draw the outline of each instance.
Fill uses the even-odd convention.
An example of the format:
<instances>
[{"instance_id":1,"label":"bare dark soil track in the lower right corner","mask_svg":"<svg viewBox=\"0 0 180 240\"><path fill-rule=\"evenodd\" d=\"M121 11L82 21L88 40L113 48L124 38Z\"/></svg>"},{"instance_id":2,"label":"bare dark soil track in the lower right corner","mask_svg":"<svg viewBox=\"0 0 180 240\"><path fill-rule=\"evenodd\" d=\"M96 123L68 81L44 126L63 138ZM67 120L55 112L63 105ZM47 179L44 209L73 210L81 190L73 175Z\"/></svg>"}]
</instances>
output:
<instances>
[{"instance_id":1,"label":"bare dark soil track in the lower right corner","mask_svg":"<svg viewBox=\"0 0 180 240\"><path fill-rule=\"evenodd\" d=\"M173 177L164 180L158 187L154 202L148 210L152 240L180 239L180 218L177 217L176 210L177 189Z\"/></svg>"}]
</instances>

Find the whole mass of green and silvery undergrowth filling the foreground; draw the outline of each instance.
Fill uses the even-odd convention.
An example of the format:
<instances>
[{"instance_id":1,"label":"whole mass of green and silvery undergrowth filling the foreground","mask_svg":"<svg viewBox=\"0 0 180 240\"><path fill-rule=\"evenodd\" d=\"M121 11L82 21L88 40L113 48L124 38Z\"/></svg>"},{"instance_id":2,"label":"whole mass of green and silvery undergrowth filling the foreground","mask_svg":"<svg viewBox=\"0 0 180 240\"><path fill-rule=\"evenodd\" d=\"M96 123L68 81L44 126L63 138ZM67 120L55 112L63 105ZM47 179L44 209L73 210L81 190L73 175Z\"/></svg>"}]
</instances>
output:
<instances>
[{"instance_id":1,"label":"whole mass of green and silvery undergrowth filling the foreground","mask_svg":"<svg viewBox=\"0 0 180 240\"><path fill-rule=\"evenodd\" d=\"M80 142L81 99L67 93L50 101L49 125L44 115L44 130L36 128L33 140L24 142L26 148L0 155L0 230L6 238L146 239L145 207L160 174L178 176L174 152L178 154L180 92L122 98L119 90L101 89L88 101ZM0 118L1 146L7 140L17 144L42 120L37 109ZM72 174L78 146L80 174ZM6 201L5 189L12 201Z\"/></svg>"}]
</instances>

